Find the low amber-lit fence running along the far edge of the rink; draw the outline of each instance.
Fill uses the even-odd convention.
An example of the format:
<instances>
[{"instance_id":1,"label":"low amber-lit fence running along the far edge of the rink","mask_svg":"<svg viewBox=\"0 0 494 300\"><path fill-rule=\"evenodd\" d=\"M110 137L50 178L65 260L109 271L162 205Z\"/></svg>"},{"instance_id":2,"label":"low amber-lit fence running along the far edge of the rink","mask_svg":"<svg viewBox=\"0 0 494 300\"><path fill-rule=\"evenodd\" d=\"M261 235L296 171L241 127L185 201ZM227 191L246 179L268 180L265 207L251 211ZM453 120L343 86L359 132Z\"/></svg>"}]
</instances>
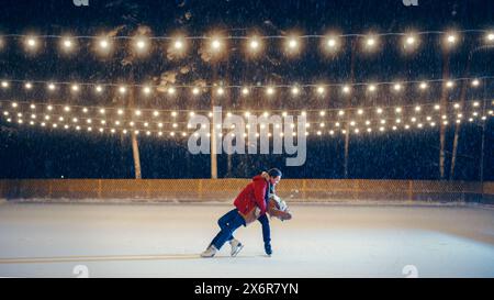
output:
<instances>
[{"instance_id":1,"label":"low amber-lit fence running along the far edge of the rink","mask_svg":"<svg viewBox=\"0 0 494 300\"><path fill-rule=\"evenodd\" d=\"M0 180L0 198L231 201L250 179L20 179ZM494 203L494 182L371 179L283 179L287 201L463 201Z\"/></svg>"}]
</instances>

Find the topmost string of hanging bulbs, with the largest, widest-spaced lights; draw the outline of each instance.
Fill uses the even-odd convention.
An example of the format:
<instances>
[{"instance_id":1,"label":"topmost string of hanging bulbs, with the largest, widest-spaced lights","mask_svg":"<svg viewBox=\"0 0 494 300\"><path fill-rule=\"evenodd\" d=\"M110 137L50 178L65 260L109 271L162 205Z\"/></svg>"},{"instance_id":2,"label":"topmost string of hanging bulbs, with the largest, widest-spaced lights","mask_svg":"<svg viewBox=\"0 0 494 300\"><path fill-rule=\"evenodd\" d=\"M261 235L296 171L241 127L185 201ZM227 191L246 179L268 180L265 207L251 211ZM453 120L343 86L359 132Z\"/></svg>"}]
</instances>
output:
<instances>
[{"instance_id":1,"label":"topmost string of hanging bulbs, with the largest, widest-spaced lights","mask_svg":"<svg viewBox=\"0 0 494 300\"><path fill-rule=\"evenodd\" d=\"M226 41L247 41L246 48L251 54L258 54L262 51L262 42L267 40L284 40L284 48L287 54L296 54L300 52L301 41L302 40L311 40L317 38L323 41L323 51L335 52L338 49L338 46L341 44L341 41L345 38L361 38L363 42L363 46L366 51L374 51L379 44L381 37L386 36L400 36L402 37L402 44L404 46L404 51L413 52L417 48L419 44L419 36L422 35L444 35L442 45L447 46L447 48L451 48L459 44L460 35L465 34L483 34L482 40L486 44L494 44L494 31L487 30L462 30L462 31L422 31L422 32L408 32L408 33L369 33L369 34L290 34L290 35L251 35L251 36L237 36L237 35L228 35L222 36L220 34L212 34L211 36L146 36L146 35L116 35L116 36L92 36L92 35L56 35L56 34L47 34L47 35L27 35L27 34L3 34L0 35L0 48L4 47L8 43L5 43L5 38L21 38L25 46L25 49L31 53L35 53L38 47L40 38L56 38L60 40L59 43L61 51L65 53L69 53L76 49L78 40L96 40L94 44L96 51L99 54L108 55L112 52L112 42L120 40L128 40L132 41L132 47L134 47L139 54L146 54L149 51L149 44L153 41L167 41L171 42L169 51L175 54L183 54L187 52L187 42L202 40L209 43L207 47L213 54L220 54L224 52L224 44Z\"/></svg>"}]
</instances>

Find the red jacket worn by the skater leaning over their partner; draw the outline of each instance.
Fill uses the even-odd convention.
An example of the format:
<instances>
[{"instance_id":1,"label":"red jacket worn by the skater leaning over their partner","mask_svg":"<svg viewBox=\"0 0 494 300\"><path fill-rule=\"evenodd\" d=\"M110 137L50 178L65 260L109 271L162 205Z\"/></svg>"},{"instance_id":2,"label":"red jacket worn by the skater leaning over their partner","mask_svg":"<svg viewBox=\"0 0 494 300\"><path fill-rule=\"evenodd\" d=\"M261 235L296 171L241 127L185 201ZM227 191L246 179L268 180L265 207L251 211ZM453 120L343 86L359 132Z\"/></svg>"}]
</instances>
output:
<instances>
[{"instance_id":1,"label":"red jacket worn by the skater leaning over their partner","mask_svg":"<svg viewBox=\"0 0 494 300\"><path fill-rule=\"evenodd\" d=\"M254 211L256 207L260 209L259 215L266 213L267 208L265 196L268 188L269 184L267 178L261 175L257 175L252 178L252 182L248 184L247 187L240 191L237 198L235 198L234 204L246 221L251 221L248 219L255 218ZM254 220L256 219L257 218Z\"/></svg>"}]
</instances>

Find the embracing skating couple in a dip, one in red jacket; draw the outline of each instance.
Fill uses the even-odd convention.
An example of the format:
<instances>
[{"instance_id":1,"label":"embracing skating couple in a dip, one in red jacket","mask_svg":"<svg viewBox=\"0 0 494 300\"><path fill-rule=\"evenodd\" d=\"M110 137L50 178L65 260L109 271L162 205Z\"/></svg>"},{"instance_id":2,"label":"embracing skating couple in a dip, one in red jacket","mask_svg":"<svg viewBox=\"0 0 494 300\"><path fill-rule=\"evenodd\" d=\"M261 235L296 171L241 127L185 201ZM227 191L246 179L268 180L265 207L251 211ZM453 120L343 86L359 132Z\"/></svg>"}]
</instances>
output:
<instances>
[{"instance_id":1,"label":"embracing skating couple in a dip, one in red jacket","mask_svg":"<svg viewBox=\"0 0 494 300\"><path fill-rule=\"evenodd\" d=\"M287 204L274 193L274 186L280 180L281 171L277 168L255 176L252 182L248 184L235 199L235 209L220 218L217 223L221 231L201 256L213 257L227 241L232 246L231 255L236 256L244 246L238 240L234 238L233 233L240 225L247 226L256 220L262 225L266 254L271 255L269 219L266 213L268 212L282 221L291 219ZM271 201L272 204L270 204Z\"/></svg>"}]
</instances>

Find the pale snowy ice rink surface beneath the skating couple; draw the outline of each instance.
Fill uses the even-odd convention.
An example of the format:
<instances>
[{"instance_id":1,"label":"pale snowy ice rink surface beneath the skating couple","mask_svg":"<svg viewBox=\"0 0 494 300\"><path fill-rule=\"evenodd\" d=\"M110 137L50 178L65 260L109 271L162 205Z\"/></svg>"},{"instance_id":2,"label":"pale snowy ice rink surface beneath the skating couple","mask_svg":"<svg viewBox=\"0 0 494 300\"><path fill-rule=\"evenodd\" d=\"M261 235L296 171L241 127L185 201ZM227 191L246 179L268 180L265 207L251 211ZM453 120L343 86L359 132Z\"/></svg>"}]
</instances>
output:
<instances>
[{"instance_id":1,"label":"pale snowy ice rink surface beneath the skating couple","mask_svg":"<svg viewBox=\"0 0 494 300\"><path fill-rule=\"evenodd\" d=\"M200 258L223 203L0 203L1 277L494 277L494 209L292 203Z\"/></svg>"}]
</instances>

